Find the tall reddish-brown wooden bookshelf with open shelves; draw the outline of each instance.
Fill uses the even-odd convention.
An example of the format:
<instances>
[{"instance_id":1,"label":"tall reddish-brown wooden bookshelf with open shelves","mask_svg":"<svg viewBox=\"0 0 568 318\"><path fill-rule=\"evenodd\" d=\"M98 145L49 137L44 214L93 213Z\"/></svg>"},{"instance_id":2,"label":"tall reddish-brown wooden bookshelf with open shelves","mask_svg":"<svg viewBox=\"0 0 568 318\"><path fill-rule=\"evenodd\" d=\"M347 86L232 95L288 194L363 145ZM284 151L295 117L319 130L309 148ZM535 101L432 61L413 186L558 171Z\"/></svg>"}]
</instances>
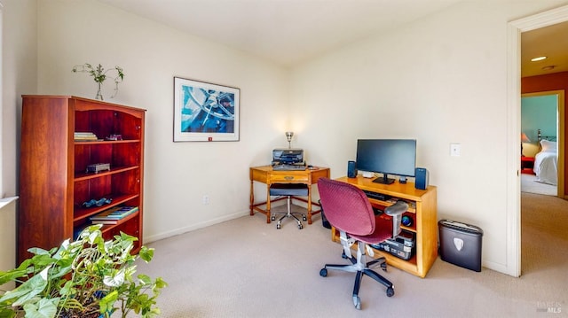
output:
<instances>
[{"instance_id":1,"label":"tall reddish-brown wooden bookshelf with open shelves","mask_svg":"<svg viewBox=\"0 0 568 318\"><path fill-rule=\"evenodd\" d=\"M144 131L146 111L69 96L22 96L18 262L30 247L50 249L89 226L89 217L113 206L138 206L117 224L106 224L105 238L124 232L142 245ZM75 132L98 140L75 141ZM122 140L105 140L121 135ZM109 163L109 171L86 167ZM110 204L84 207L91 199Z\"/></svg>"}]
</instances>

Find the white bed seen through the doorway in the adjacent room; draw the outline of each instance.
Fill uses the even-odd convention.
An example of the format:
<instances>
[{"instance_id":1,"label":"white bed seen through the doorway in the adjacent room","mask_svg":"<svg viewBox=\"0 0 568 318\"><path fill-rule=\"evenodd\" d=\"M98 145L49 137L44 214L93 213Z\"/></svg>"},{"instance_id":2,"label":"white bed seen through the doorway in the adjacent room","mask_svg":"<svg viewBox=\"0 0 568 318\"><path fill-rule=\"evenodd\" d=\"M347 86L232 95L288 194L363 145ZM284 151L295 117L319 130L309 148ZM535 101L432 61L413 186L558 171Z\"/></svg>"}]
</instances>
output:
<instances>
[{"instance_id":1,"label":"white bed seen through the doorway in the adjacent room","mask_svg":"<svg viewBox=\"0 0 568 318\"><path fill-rule=\"evenodd\" d=\"M534 174L537 182L558 183L558 151L556 142L540 140L540 151L534 156Z\"/></svg>"}]
</instances>

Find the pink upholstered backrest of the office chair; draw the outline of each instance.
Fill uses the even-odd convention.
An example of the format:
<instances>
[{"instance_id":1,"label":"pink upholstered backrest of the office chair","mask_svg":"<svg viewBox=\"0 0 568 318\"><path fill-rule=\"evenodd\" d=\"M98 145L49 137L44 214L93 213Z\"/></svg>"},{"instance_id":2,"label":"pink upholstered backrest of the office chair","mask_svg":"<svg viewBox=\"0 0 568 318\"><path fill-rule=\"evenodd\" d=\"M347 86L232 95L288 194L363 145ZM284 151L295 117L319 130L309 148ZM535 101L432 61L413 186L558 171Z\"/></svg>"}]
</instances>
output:
<instances>
[{"instance_id":1,"label":"pink upholstered backrest of the office chair","mask_svg":"<svg viewBox=\"0 0 568 318\"><path fill-rule=\"evenodd\" d=\"M375 212L362 190L328 178L319 178L318 190L323 213L335 229L358 236L375 231Z\"/></svg>"}]
</instances>

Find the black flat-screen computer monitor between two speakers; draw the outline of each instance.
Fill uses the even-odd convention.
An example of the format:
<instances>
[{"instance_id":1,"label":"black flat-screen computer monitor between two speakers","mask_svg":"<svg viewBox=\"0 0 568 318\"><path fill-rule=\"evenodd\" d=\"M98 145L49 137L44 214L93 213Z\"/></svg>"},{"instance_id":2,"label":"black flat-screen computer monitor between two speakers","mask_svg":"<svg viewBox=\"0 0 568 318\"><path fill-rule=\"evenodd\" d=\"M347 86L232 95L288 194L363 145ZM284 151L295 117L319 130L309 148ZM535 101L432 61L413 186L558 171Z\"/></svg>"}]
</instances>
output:
<instances>
[{"instance_id":1,"label":"black flat-screen computer monitor between two speakers","mask_svg":"<svg viewBox=\"0 0 568 318\"><path fill-rule=\"evenodd\" d=\"M399 175L406 181L407 176L414 177L415 167L415 139L357 140L357 169L383 174L383 177L378 177L373 182L394 182L388 175Z\"/></svg>"}]
</instances>

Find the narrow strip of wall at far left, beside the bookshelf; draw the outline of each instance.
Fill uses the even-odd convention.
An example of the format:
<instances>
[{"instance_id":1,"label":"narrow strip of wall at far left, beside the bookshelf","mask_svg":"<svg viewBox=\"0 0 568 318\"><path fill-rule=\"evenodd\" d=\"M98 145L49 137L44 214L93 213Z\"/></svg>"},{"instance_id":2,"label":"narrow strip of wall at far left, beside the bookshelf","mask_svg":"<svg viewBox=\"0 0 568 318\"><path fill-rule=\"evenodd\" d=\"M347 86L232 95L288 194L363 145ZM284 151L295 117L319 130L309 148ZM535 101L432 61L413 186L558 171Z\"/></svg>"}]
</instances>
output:
<instances>
[{"instance_id":1,"label":"narrow strip of wall at far left, beside the bookshelf","mask_svg":"<svg viewBox=\"0 0 568 318\"><path fill-rule=\"evenodd\" d=\"M0 198L17 194L20 140L20 95L36 90L36 0L2 0L2 155ZM2 205L0 205L2 206ZM16 203L0 208L0 270L16 263ZM10 286L4 286L10 288Z\"/></svg>"}]
</instances>

